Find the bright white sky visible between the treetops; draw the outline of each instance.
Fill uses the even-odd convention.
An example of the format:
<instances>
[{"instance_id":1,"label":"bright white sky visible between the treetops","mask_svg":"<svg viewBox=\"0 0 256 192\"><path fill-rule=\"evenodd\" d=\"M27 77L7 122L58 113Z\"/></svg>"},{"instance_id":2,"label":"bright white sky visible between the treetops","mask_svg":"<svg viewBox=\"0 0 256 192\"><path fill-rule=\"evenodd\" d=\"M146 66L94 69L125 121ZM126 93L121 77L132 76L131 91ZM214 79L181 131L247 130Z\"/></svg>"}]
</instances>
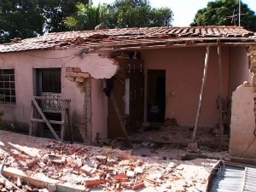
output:
<instances>
[{"instance_id":1,"label":"bright white sky visible between the treetops","mask_svg":"<svg viewBox=\"0 0 256 192\"><path fill-rule=\"evenodd\" d=\"M154 8L167 7L172 9L174 15L172 26L189 26L197 11L206 8L207 3L212 1L214 0L149 0L150 5ZM94 5L113 2L114 0L92 0ZM248 8L256 13L256 0L241 0L241 3L247 4Z\"/></svg>"}]
</instances>

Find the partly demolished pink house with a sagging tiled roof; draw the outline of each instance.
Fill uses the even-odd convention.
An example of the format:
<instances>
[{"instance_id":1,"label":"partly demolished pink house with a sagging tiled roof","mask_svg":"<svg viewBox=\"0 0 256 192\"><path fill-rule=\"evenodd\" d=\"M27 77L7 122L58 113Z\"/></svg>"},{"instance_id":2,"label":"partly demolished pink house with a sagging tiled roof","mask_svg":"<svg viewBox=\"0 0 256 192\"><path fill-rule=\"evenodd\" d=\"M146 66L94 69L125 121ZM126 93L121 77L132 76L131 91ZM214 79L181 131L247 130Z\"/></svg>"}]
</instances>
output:
<instances>
[{"instance_id":1,"label":"partly demolished pink house with a sagging tiled roof","mask_svg":"<svg viewBox=\"0 0 256 192\"><path fill-rule=\"evenodd\" d=\"M3 124L84 143L166 119L192 128L229 126L233 91L252 82L252 36L238 26L193 26L13 39L0 45ZM240 137L235 132L231 126L230 140Z\"/></svg>"}]
</instances>

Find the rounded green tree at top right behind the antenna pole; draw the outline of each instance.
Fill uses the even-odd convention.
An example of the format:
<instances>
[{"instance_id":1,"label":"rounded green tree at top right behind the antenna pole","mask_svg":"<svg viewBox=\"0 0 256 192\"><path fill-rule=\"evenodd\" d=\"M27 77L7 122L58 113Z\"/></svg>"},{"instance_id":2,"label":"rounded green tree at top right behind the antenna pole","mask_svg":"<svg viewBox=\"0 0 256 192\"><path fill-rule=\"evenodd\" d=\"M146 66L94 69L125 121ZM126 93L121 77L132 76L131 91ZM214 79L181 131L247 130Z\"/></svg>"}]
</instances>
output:
<instances>
[{"instance_id":1,"label":"rounded green tree at top right behind the antenna pole","mask_svg":"<svg viewBox=\"0 0 256 192\"><path fill-rule=\"evenodd\" d=\"M238 0L216 0L207 3L207 8L197 11L191 26L238 26ZM241 3L241 26L253 32L256 31L256 15Z\"/></svg>"}]
</instances>

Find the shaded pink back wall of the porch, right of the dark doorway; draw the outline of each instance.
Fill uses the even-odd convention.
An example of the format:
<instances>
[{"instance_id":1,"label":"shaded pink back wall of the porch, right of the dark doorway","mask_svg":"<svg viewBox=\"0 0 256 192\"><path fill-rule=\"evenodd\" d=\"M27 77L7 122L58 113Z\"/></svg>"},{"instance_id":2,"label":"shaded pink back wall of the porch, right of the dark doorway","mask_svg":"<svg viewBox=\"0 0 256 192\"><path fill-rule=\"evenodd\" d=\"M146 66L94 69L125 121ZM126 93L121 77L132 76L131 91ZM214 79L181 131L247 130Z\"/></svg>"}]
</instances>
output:
<instances>
[{"instance_id":1,"label":"shaded pink back wall of the porch, right of the dark doorway","mask_svg":"<svg viewBox=\"0 0 256 192\"><path fill-rule=\"evenodd\" d=\"M180 125L194 125L198 108L206 47L143 50L145 75L148 69L166 70L166 118L176 118ZM223 92L228 95L229 49L222 48ZM146 77L146 79L149 77ZM174 92L174 96L172 96ZM218 55L210 47L199 125L216 125L218 111Z\"/></svg>"}]
</instances>

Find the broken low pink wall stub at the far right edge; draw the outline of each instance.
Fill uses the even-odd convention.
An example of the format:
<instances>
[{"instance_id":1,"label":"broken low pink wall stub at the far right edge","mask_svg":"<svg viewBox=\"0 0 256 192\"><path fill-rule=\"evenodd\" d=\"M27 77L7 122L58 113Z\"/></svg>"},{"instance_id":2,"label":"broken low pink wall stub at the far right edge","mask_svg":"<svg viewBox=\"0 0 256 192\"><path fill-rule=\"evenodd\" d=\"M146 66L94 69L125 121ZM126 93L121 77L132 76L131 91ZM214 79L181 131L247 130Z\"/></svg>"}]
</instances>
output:
<instances>
[{"instance_id":1,"label":"broken low pink wall stub at the far right edge","mask_svg":"<svg viewBox=\"0 0 256 192\"><path fill-rule=\"evenodd\" d=\"M230 123L230 154L235 157L256 158L253 86L241 85L232 95Z\"/></svg>"}]
</instances>

